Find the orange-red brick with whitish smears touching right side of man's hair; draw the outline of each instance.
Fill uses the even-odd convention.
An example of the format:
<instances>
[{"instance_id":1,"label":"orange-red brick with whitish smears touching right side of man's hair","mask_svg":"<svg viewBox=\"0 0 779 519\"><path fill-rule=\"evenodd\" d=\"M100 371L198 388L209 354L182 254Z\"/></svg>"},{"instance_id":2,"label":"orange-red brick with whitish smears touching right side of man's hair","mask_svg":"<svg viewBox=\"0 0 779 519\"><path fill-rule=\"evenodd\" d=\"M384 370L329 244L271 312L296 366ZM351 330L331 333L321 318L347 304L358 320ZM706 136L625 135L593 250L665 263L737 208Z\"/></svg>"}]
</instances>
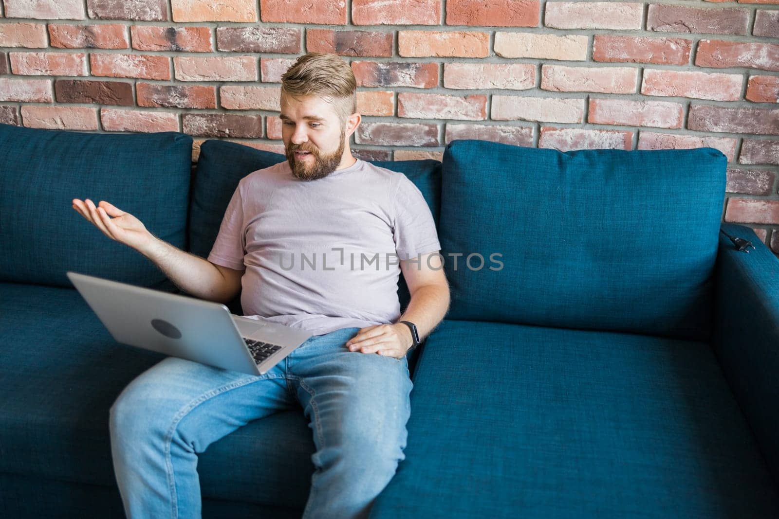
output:
<instances>
[{"instance_id":1,"label":"orange-red brick with whitish smears touching right side of man's hair","mask_svg":"<svg viewBox=\"0 0 779 519\"><path fill-rule=\"evenodd\" d=\"M432 88L439 83L437 63L352 61L357 86L413 86Z\"/></svg>"}]
</instances>

